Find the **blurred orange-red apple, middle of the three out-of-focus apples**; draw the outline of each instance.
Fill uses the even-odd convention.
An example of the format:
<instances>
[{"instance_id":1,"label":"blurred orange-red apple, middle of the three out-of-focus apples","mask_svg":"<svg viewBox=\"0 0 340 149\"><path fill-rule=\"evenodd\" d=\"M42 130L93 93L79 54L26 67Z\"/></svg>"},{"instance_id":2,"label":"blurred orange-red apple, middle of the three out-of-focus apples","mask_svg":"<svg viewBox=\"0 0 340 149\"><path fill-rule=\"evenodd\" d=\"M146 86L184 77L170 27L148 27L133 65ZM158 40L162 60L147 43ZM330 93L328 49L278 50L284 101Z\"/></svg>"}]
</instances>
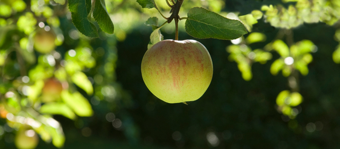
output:
<instances>
[{"instance_id":1,"label":"blurred orange-red apple, middle of the three out-of-focus apples","mask_svg":"<svg viewBox=\"0 0 340 149\"><path fill-rule=\"evenodd\" d=\"M60 99L60 93L63 90L63 85L56 78L49 78L45 81L42 89L42 102L53 102Z\"/></svg>"}]
</instances>

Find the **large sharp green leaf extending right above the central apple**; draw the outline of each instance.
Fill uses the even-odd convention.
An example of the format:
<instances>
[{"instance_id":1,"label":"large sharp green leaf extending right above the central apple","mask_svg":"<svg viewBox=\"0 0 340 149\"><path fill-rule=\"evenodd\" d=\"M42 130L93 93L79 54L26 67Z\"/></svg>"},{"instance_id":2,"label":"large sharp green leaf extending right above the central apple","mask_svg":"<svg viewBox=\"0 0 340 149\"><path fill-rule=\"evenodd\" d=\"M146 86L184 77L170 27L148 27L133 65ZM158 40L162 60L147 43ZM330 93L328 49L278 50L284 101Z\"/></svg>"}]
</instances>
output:
<instances>
[{"instance_id":1,"label":"large sharp green leaf extending right above the central apple","mask_svg":"<svg viewBox=\"0 0 340 149\"><path fill-rule=\"evenodd\" d=\"M232 40L247 33L240 21L199 7L194 7L187 13L185 28L187 33L195 38Z\"/></svg>"}]
</instances>

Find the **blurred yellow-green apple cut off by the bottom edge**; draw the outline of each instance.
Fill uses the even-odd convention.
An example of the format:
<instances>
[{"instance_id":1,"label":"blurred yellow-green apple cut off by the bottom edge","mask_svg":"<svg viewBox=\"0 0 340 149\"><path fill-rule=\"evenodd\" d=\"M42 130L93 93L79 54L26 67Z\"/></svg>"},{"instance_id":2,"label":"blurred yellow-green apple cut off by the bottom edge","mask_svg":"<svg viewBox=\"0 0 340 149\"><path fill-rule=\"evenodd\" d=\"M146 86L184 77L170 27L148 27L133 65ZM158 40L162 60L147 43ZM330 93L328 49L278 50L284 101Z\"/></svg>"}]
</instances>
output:
<instances>
[{"instance_id":1,"label":"blurred yellow-green apple cut off by the bottom edge","mask_svg":"<svg viewBox=\"0 0 340 149\"><path fill-rule=\"evenodd\" d=\"M20 128L14 139L14 143L18 149L35 149L39 143L39 137L34 130L26 130Z\"/></svg>"}]
</instances>

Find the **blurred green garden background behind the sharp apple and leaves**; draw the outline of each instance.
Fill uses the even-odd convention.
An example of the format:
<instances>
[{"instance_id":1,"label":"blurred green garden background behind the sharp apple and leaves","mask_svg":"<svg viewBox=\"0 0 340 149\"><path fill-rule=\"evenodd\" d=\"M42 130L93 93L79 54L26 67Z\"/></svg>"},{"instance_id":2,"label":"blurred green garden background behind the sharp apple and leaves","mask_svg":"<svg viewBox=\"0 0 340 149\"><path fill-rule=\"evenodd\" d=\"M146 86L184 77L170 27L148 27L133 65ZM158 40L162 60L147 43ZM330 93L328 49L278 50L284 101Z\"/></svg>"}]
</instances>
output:
<instances>
[{"instance_id":1,"label":"blurred green garden background behind the sharp apple and leaves","mask_svg":"<svg viewBox=\"0 0 340 149\"><path fill-rule=\"evenodd\" d=\"M204 7L253 31L233 45L195 39L214 76L189 105L165 104L143 84L153 31L144 22L156 9L106 0L115 33L91 39L55 1L0 0L0 149L340 148L339 0L186 0L182 17ZM184 23L180 40L194 39ZM160 30L174 38L174 23Z\"/></svg>"}]
</instances>

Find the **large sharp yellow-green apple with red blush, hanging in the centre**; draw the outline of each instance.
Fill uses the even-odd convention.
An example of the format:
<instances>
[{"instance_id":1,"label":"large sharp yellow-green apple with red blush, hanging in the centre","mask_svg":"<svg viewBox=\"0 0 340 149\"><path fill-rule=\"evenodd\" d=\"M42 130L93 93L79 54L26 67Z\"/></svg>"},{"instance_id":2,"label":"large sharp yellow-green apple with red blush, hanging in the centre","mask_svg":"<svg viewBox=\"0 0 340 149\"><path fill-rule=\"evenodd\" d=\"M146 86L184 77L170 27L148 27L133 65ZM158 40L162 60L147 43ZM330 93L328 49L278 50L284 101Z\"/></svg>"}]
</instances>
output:
<instances>
[{"instance_id":1,"label":"large sharp yellow-green apple with red blush, hanging in the centre","mask_svg":"<svg viewBox=\"0 0 340 149\"><path fill-rule=\"evenodd\" d=\"M199 99L210 85L213 64L198 41L163 40L146 51L141 71L148 89L173 104Z\"/></svg>"}]
</instances>

